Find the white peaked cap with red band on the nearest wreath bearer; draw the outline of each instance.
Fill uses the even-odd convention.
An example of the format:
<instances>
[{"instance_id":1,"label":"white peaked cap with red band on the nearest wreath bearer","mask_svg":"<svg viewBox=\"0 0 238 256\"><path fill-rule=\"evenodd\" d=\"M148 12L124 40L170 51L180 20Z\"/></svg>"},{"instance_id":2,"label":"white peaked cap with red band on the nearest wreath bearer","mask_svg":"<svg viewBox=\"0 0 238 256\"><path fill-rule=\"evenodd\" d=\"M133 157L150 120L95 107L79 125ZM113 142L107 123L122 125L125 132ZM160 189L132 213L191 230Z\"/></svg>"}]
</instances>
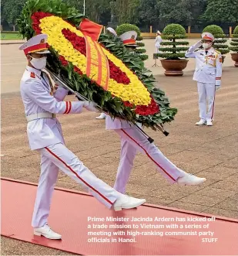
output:
<instances>
[{"instance_id":1,"label":"white peaked cap with red band on the nearest wreath bearer","mask_svg":"<svg viewBox=\"0 0 238 256\"><path fill-rule=\"evenodd\" d=\"M23 50L25 55L28 53L50 53L46 43L47 39L48 36L45 34L33 36L31 39L28 39L26 43L20 46L19 49Z\"/></svg>"}]
</instances>

